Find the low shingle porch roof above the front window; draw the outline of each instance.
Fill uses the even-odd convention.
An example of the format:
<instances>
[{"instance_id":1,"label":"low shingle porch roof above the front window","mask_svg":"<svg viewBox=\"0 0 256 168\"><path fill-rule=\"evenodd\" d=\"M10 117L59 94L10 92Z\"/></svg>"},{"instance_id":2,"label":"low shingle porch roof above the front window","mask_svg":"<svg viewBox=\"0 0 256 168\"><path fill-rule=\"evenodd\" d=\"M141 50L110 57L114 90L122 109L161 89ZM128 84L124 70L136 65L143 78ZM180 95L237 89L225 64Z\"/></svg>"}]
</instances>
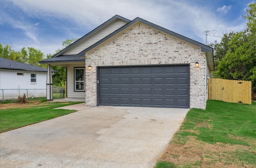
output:
<instances>
[{"instance_id":1,"label":"low shingle porch roof above the front window","mask_svg":"<svg viewBox=\"0 0 256 168\"><path fill-rule=\"evenodd\" d=\"M78 57L78 55L60 55L58 57L50 57L39 61L39 63L65 63L65 62L84 62L84 58Z\"/></svg>"}]
</instances>

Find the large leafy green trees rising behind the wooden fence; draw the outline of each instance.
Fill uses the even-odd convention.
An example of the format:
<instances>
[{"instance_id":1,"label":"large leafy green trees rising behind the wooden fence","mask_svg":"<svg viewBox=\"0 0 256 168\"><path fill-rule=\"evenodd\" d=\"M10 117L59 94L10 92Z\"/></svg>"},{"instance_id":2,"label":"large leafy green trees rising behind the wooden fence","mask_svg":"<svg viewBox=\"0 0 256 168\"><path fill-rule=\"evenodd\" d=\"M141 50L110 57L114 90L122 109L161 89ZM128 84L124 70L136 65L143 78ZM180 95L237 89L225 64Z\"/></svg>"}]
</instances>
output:
<instances>
[{"instance_id":1,"label":"large leafy green trees rising behind the wooden fence","mask_svg":"<svg viewBox=\"0 0 256 168\"><path fill-rule=\"evenodd\" d=\"M246 10L247 27L241 32L224 35L220 43L212 46L219 61L215 77L252 81L256 93L256 3ZM226 37L225 37L226 36Z\"/></svg>"}]
</instances>

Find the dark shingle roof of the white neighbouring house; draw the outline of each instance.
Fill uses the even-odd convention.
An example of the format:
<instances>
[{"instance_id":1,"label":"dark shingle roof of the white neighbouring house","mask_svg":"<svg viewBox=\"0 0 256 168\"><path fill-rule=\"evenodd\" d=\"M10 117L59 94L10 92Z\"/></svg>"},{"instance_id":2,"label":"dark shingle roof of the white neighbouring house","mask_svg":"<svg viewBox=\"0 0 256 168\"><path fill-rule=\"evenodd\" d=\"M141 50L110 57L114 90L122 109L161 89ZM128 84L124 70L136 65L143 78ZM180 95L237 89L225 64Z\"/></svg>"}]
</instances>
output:
<instances>
[{"instance_id":1,"label":"dark shingle roof of the white neighbouring house","mask_svg":"<svg viewBox=\"0 0 256 168\"><path fill-rule=\"evenodd\" d=\"M0 57L0 69L18 69L25 71L44 71L47 72L47 69L42 67L37 67L34 65L29 65L26 63L21 63L17 61L12 61L10 59L5 59Z\"/></svg>"}]
</instances>

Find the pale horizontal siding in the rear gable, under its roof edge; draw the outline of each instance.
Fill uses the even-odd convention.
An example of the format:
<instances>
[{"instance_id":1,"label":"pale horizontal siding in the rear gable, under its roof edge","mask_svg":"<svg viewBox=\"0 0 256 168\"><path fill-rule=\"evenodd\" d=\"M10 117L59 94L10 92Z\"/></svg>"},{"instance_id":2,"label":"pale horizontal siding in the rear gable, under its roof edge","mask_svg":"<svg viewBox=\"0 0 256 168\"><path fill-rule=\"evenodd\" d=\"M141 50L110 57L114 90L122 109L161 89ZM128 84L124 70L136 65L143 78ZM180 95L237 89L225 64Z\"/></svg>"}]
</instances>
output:
<instances>
[{"instance_id":1,"label":"pale horizontal siding in the rear gable, under its roof edge","mask_svg":"<svg viewBox=\"0 0 256 168\"><path fill-rule=\"evenodd\" d=\"M124 22L122 20L117 20L113 24L110 24L106 28L102 29L100 32L98 32L94 36L91 36L91 37L87 38L86 40L84 40L83 42L79 43L78 45L76 45L75 47L70 49L69 51L63 53L63 55L78 54L81 51L83 51L84 49L90 47L94 43L100 41L101 39L105 38L109 34L113 33L116 30L118 30L119 28L121 28L125 24L127 24L127 22Z\"/></svg>"}]
</instances>

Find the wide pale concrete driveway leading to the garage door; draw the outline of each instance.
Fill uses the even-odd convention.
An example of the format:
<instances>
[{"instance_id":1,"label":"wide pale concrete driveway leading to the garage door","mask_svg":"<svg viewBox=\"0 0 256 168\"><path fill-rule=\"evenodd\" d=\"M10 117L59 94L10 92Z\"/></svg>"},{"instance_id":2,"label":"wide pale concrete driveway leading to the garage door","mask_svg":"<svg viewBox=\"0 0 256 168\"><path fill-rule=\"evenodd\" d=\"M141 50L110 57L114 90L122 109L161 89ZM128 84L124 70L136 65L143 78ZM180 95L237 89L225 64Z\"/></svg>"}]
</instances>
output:
<instances>
[{"instance_id":1,"label":"wide pale concrete driveway leading to the garage door","mask_svg":"<svg viewBox=\"0 0 256 168\"><path fill-rule=\"evenodd\" d=\"M64 107L80 106L76 113L1 133L0 167L152 168L188 112L81 105Z\"/></svg>"}]
</instances>

